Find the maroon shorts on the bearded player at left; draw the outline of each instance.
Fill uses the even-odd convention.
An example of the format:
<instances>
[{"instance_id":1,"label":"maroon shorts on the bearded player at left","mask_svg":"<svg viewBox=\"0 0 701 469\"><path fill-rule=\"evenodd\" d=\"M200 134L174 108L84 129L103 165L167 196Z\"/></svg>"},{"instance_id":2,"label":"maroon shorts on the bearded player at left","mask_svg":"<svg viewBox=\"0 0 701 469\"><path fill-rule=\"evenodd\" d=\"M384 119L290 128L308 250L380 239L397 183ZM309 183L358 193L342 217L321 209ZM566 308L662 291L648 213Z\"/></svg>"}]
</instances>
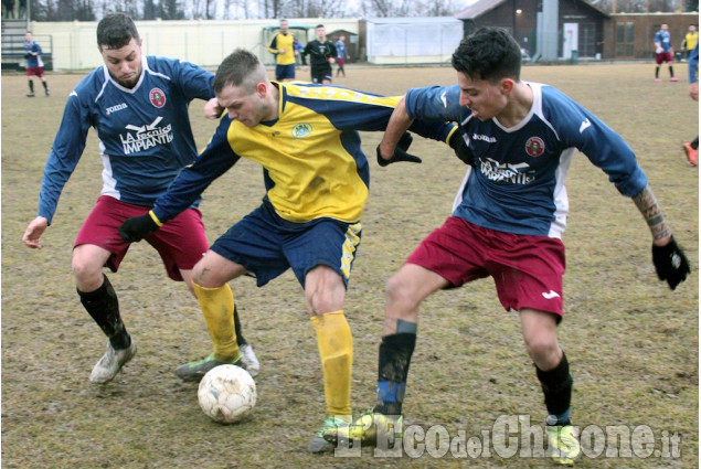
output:
<instances>
[{"instance_id":1,"label":"maroon shorts on the bearded player at left","mask_svg":"<svg viewBox=\"0 0 701 469\"><path fill-rule=\"evenodd\" d=\"M100 195L81 226L73 247L93 244L109 251L111 256L105 266L117 271L130 246L130 243L125 243L119 237L119 225L129 217L148 213L149 210L149 206L131 205L109 195ZM168 276L177 281L182 280L180 270L192 269L209 249L202 213L197 209L188 209L163 223L163 226L145 241L158 251Z\"/></svg>"}]
</instances>

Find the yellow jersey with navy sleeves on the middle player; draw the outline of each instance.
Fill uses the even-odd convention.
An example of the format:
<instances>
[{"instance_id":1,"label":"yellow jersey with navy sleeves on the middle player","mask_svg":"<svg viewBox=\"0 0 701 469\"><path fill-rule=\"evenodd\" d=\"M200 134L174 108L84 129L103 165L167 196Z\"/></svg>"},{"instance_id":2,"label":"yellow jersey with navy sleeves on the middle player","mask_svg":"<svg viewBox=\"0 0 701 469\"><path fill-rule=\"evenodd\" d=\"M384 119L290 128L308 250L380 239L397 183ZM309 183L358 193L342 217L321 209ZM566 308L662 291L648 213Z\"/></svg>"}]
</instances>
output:
<instances>
[{"instance_id":1,"label":"yellow jersey with navy sleeves on the middle player","mask_svg":"<svg viewBox=\"0 0 701 469\"><path fill-rule=\"evenodd\" d=\"M248 128L224 116L198 161L183 169L153 209L160 221L184 210L240 158L264 169L266 198L286 221L330 217L354 223L370 186L359 130L384 130L400 96L302 83L274 85L279 114ZM455 125L415 121L412 130L447 141Z\"/></svg>"}]
</instances>

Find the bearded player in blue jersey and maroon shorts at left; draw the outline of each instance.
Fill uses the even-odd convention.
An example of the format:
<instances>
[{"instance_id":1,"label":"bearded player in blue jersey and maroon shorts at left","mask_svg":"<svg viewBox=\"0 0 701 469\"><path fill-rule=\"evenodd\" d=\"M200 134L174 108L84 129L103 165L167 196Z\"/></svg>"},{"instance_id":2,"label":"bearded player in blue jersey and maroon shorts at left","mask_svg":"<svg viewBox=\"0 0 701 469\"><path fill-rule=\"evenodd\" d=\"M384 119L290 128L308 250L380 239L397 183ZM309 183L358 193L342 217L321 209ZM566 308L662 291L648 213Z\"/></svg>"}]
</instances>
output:
<instances>
[{"instance_id":1,"label":"bearded player in blue jersey and maroon shorts at left","mask_svg":"<svg viewBox=\"0 0 701 469\"><path fill-rule=\"evenodd\" d=\"M104 164L103 190L75 241L73 274L81 302L109 339L91 374L92 382L107 383L137 350L121 320L117 295L103 274L103 267L117 271L129 249L118 227L127 217L147 213L178 172L195 160L190 102L205 100L205 115L216 111L217 104L210 72L179 60L142 55L139 33L126 14L109 14L99 22L97 44L105 65L83 78L68 96L44 168L39 214L22 241L41 248L40 237L94 127ZM147 238L168 276L184 280L191 291L192 267L209 248L198 203L193 200ZM245 340L240 342L245 365L255 375L258 362L253 349Z\"/></svg>"}]
</instances>

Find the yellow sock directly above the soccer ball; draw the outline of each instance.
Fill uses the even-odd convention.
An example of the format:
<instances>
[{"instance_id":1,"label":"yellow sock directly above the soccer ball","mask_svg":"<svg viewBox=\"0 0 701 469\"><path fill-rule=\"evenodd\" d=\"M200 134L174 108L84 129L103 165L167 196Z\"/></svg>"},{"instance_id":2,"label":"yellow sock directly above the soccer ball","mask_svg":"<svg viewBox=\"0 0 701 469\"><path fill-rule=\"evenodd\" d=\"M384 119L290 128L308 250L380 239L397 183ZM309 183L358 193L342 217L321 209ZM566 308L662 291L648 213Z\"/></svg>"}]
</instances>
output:
<instances>
[{"instance_id":1,"label":"yellow sock directly above the soccer ball","mask_svg":"<svg viewBox=\"0 0 701 469\"><path fill-rule=\"evenodd\" d=\"M238 358L234 329L234 294L227 284L220 288L200 287L192 283L202 315L214 344L214 360L232 362Z\"/></svg>"}]
</instances>

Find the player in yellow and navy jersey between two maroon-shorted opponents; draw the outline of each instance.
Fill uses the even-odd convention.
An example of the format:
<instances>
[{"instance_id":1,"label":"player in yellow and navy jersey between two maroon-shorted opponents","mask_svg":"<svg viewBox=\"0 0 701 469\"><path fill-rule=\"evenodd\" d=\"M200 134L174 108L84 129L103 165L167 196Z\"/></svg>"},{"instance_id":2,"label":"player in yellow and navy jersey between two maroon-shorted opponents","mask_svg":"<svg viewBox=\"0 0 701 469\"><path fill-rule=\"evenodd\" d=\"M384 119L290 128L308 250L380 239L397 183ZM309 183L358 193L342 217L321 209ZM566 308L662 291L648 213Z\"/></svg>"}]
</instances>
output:
<instances>
[{"instance_id":1,"label":"player in yellow and navy jersey between two maroon-shorted opponents","mask_svg":"<svg viewBox=\"0 0 701 469\"><path fill-rule=\"evenodd\" d=\"M182 374L189 370L199 380L237 353L229 280L253 274L262 287L291 268L317 333L327 403L327 418L309 450L327 451L332 446L322 438L323 430L348 425L351 418L353 344L343 299L370 183L358 130L384 130L400 97L270 82L258 57L244 50L222 62L214 90L227 114L210 143L149 214L127 220L120 233L128 241L158 233L241 158L263 166L267 192L261 206L216 239L193 269L210 334L229 343L215 345L202 361L184 364ZM445 122L417 120L411 129L449 143L459 134ZM386 162L416 161L405 153L407 146L404 137Z\"/></svg>"}]
</instances>

